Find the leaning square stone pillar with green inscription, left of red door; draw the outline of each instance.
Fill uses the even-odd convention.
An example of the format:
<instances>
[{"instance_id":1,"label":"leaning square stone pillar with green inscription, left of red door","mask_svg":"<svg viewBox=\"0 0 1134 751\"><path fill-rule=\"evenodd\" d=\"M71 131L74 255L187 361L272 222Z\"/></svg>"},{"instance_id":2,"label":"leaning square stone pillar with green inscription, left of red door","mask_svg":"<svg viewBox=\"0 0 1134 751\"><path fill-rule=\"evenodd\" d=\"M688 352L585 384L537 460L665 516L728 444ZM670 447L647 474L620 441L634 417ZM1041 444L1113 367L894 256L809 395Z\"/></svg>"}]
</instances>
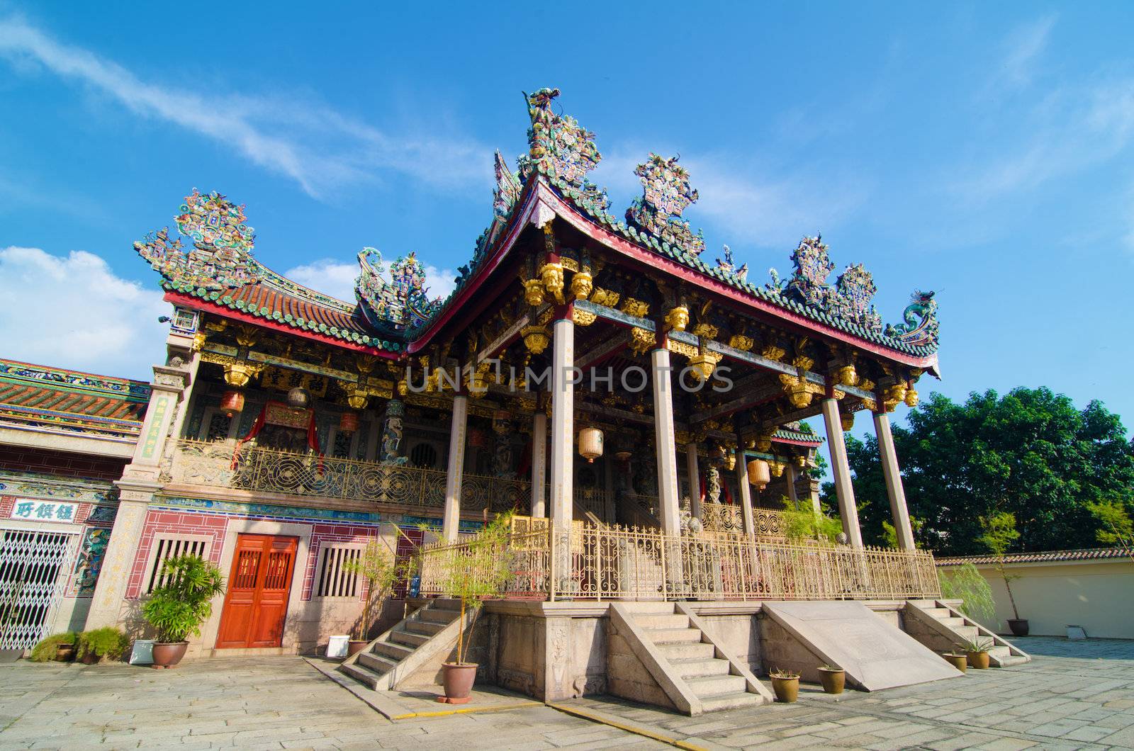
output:
<instances>
[{"instance_id":1,"label":"leaning square stone pillar with green inscription, left of red door","mask_svg":"<svg viewBox=\"0 0 1134 751\"><path fill-rule=\"evenodd\" d=\"M126 465L122 479L115 482L119 491L118 513L102 558L99 581L94 585L91 609L86 616L87 628L120 623L119 614L145 526L146 510L153 493L161 489L166 444L175 421L180 422L178 403L187 400L191 381L189 370L184 366L153 368L150 404L146 406L138 442L134 447L134 456Z\"/></svg>"}]
</instances>

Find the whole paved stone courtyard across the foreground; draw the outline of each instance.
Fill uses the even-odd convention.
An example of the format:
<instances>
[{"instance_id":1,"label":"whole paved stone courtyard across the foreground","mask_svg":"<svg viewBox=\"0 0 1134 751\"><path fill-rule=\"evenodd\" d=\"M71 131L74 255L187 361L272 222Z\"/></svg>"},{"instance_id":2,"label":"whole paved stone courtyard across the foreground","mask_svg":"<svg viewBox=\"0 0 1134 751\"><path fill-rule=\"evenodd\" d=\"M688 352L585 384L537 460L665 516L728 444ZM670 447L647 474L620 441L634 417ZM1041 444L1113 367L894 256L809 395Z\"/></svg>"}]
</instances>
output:
<instances>
[{"instance_id":1,"label":"whole paved stone courtyard across the foreground","mask_svg":"<svg viewBox=\"0 0 1134 751\"><path fill-rule=\"evenodd\" d=\"M1134 642L1025 639L1035 661L868 694L682 717L617 700L566 706L706 749L1134 748ZM439 706L440 707L440 706ZM176 670L0 667L0 748L670 748L542 706L390 722L294 657Z\"/></svg>"}]
</instances>

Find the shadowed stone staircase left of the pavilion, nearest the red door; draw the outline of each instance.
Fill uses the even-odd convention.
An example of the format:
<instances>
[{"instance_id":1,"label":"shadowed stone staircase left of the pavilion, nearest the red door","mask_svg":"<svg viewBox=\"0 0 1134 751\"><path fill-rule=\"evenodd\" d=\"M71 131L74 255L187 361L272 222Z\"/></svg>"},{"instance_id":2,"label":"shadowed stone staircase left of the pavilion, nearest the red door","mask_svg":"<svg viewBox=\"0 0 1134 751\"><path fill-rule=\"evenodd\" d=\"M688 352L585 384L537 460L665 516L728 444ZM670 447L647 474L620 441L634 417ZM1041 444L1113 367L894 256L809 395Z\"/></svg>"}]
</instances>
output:
<instances>
[{"instance_id":1,"label":"shadowed stone staircase left of the pavilion, nearest the red door","mask_svg":"<svg viewBox=\"0 0 1134 751\"><path fill-rule=\"evenodd\" d=\"M459 618L459 600L430 600L338 669L374 691L396 689L439 649L452 648Z\"/></svg>"}]
</instances>

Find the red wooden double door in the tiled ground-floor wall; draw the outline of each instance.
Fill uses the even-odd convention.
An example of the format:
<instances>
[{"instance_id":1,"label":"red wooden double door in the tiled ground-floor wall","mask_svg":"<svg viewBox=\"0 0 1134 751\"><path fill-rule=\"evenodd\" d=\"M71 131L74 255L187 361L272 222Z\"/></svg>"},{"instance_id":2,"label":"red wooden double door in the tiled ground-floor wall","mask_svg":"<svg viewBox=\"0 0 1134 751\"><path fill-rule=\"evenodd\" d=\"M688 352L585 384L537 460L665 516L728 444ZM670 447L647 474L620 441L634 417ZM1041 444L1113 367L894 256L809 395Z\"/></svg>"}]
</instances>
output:
<instances>
[{"instance_id":1,"label":"red wooden double door in the tiled ground-floor wall","mask_svg":"<svg viewBox=\"0 0 1134 751\"><path fill-rule=\"evenodd\" d=\"M297 546L296 538L237 537L217 649L282 643Z\"/></svg>"}]
</instances>

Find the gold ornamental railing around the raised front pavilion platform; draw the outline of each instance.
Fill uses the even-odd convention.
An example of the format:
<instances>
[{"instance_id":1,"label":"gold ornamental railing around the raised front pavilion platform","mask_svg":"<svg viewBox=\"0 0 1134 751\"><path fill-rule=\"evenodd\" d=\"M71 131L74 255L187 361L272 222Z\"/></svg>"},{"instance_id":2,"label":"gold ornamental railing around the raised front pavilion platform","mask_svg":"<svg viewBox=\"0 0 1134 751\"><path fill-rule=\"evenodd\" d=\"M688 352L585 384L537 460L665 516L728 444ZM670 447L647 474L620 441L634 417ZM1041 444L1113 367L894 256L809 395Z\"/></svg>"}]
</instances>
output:
<instances>
[{"instance_id":1,"label":"gold ornamental railing around the raised front pavilion platform","mask_svg":"<svg viewBox=\"0 0 1134 751\"><path fill-rule=\"evenodd\" d=\"M500 555L513 556L506 597L575 600L832 600L940 597L933 556L915 550L753 542L712 532L576 523L551 555L553 530L526 525ZM565 538L566 540L566 538ZM469 543L422 551L422 592L445 594L448 556Z\"/></svg>"}]
</instances>

